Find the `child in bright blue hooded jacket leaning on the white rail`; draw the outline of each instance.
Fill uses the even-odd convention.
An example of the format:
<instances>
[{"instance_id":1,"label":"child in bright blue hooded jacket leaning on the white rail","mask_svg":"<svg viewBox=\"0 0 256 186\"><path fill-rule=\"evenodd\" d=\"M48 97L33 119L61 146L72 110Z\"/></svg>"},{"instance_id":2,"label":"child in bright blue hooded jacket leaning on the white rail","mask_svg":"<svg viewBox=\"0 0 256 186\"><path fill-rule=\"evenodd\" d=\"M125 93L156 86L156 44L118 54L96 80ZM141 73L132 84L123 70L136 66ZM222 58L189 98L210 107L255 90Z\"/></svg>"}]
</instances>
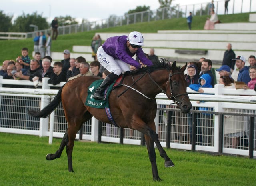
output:
<instances>
[{"instance_id":1,"label":"child in bright blue hooded jacket leaning on the white rail","mask_svg":"<svg viewBox=\"0 0 256 186\"><path fill-rule=\"evenodd\" d=\"M199 80L199 84L190 84L189 88L192 90L198 91L201 94L204 93L202 88L212 88L211 85L211 76L209 74L203 74ZM202 102L202 101L201 101ZM200 101L197 101L199 104ZM212 110L207 107L199 107L198 110L208 111ZM212 129L213 129L213 115L208 113L199 114L198 117L198 142L200 145L212 146L213 139L212 139Z\"/></svg>"}]
</instances>

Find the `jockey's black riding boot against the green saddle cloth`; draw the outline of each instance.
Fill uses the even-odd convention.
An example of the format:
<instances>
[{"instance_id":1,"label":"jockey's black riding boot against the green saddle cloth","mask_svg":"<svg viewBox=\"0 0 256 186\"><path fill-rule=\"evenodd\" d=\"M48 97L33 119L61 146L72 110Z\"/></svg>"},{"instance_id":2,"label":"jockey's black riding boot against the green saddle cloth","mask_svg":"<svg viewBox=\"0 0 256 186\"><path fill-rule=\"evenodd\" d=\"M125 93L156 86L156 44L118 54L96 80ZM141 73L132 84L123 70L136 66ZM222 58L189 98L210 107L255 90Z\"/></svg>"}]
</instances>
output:
<instances>
[{"instance_id":1,"label":"jockey's black riding boot against the green saddle cloth","mask_svg":"<svg viewBox=\"0 0 256 186\"><path fill-rule=\"evenodd\" d=\"M92 98L96 99L96 100L104 100L105 96L104 96L104 90L111 85L114 80L118 77L118 75L114 74L113 72L111 72L110 74L108 74L108 76L106 76L106 78L103 80L103 82L101 83L100 87L97 88L97 90L94 92Z\"/></svg>"}]
</instances>

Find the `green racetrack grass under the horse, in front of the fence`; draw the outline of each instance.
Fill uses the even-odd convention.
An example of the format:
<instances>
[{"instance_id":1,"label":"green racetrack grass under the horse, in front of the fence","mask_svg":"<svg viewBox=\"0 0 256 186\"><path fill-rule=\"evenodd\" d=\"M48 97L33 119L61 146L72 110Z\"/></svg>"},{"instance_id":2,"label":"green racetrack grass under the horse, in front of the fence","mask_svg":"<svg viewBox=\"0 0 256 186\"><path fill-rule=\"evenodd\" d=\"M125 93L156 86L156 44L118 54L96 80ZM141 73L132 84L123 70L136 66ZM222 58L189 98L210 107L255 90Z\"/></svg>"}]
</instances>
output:
<instances>
[{"instance_id":1,"label":"green racetrack grass under the horse, in front of the fence","mask_svg":"<svg viewBox=\"0 0 256 186\"><path fill-rule=\"evenodd\" d=\"M0 133L0 186L252 186L256 160L166 149L175 167L165 168L157 154L161 182L152 180L145 146L76 141L74 173L66 152L47 161L61 139Z\"/></svg>"}]
</instances>

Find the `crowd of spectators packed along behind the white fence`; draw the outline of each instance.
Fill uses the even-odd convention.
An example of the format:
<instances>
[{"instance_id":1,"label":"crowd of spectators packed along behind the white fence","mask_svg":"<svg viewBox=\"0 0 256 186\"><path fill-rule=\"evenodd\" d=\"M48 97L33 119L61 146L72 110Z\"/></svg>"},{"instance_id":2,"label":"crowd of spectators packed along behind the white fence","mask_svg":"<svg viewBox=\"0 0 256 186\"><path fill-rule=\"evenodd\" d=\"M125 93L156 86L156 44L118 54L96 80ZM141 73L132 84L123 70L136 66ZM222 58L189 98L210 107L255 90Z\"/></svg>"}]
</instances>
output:
<instances>
[{"instance_id":1,"label":"crowd of spectators packed along behind the white fence","mask_svg":"<svg viewBox=\"0 0 256 186\"><path fill-rule=\"evenodd\" d=\"M100 36L94 42L94 47L101 44ZM39 42L40 43L40 42ZM36 46L34 46L35 48ZM40 44L39 44L40 48ZM93 50L93 48L92 48ZM93 50L96 52L96 50ZM32 59L29 57L28 48L22 48L21 56L18 56L16 60L5 60L0 68L0 76L4 79L14 80L30 80L33 82L40 82L42 78L48 77L48 84L57 85L63 81L70 81L80 76L100 76L105 78L110 72L107 70L100 70L100 63L96 60L93 62L86 62L86 59L82 56L77 58L70 58L71 53L68 49L63 51L63 60L56 61L51 66L52 58L50 56L42 57L40 52L35 52ZM149 55L146 55L153 64L158 60L158 56L154 54L154 49L150 49ZM227 50L224 53L222 66L215 70L212 68L212 60L204 57L200 58L198 62L189 62L187 65L187 71L185 79L187 86L192 90L198 91L200 94L204 94L204 87L214 87L216 84L216 76L213 74L218 73L219 80L218 84L224 84L225 88L235 88L235 82L244 82L244 89L254 89L256 91L256 59L255 56L251 55L248 57L250 66L246 66L246 58L242 55L236 57L232 50L232 45L228 43ZM232 74L236 69L239 71L238 78L234 79ZM134 70L133 68L131 68ZM213 73L214 72L214 73ZM35 84L37 87L38 84ZM57 87L58 88L58 87ZM198 102L200 104L201 102ZM212 111L211 108L204 106L198 106L198 110ZM191 115L189 116L191 117ZM198 120L198 142L202 145L213 144L213 114L204 114L203 120ZM244 137L245 132L241 131L243 126L239 126L238 131L232 128L231 116L225 116L227 125L224 126L224 135L230 140L225 143L232 148L236 148L239 144L238 138ZM200 118L200 117L199 117ZM233 120L232 120L233 121ZM191 124L190 131L191 133ZM238 124L237 124L238 126ZM247 137L246 137L247 138Z\"/></svg>"}]
</instances>

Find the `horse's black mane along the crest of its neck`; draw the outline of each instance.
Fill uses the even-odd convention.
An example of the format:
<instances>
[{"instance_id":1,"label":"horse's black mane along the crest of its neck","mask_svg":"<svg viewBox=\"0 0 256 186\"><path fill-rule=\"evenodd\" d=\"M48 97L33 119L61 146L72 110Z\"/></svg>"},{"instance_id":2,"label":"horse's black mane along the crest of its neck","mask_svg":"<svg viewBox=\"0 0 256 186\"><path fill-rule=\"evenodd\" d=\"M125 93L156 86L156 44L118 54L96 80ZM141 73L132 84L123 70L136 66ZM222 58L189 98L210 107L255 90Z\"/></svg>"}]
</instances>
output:
<instances>
[{"instance_id":1,"label":"horse's black mane along the crest of its neck","mask_svg":"<svg viewBox=\"0 0 256 186\"><path fill-rule=\"evenodd\" d=\"M153 72L155 70L161 70L161 69L166 69L166 70L171 70L172 69L172 64L164 59L160 58L157 62L154 62L152 66L147 67L148 72ZM141 74L146 71L144 68L138 68L137 70L132 70L132 74ZM178 67L178 70L180 70L180 67Z\"/></svg>"}]
</instances>

